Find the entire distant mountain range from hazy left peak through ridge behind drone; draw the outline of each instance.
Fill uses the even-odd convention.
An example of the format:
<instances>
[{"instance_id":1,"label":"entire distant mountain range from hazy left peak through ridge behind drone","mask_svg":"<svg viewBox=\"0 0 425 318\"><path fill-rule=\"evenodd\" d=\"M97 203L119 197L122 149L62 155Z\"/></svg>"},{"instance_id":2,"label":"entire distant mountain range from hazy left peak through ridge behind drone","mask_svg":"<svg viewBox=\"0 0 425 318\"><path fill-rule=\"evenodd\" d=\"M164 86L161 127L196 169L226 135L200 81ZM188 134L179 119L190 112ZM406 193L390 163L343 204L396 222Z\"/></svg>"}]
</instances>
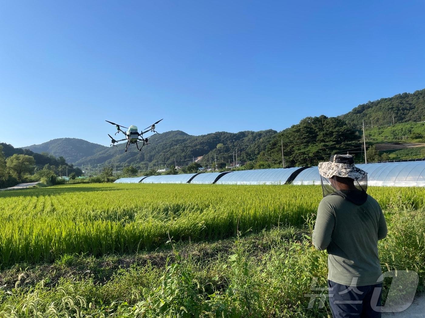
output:
<instances>
[{"instance_id":1,"label":"entire distant mountain range from hazy left peak through ridge behind drone","mask_svg":"<svg viewBox=\"0 0 425 318\"><path fill-rule=\"evenodd\" d=\"M229 133L219 131L201 136L193 136L184 131L167 131L149 138L151 145L138 151L130 145L127 152L125 142L117 147L105 147L82 139L59 138L44 142L41 145L23 147L25 149L54 156L63 156L67 162L81 165L149 165L170 166L184 165L201 157L200 163L207 165L212 161L233 161L232 151L238 150L238 160L249 161L266 149L266 145L277 134L274 130L240 131ZM229 155L230 153L230 155Z\"/></svg>"}]
</instances>

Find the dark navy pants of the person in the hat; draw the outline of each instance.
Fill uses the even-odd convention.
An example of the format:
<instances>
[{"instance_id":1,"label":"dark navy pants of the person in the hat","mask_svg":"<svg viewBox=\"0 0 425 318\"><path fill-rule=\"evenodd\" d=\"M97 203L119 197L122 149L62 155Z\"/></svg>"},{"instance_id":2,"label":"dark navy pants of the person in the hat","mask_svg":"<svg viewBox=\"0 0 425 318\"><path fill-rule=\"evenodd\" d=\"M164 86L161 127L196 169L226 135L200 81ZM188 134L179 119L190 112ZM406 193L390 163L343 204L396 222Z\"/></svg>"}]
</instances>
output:
<instances>
[{"instance_id":1,"label":"dark navy pants of the person in the hat","mask_svg":"<svg viewBox=\"0 0 425 318\"><path fill-rule=\"evenodd\" d=\"M346 286L328 280L329 305L334 318L380 318L373 307L381 305L382 283L367 286ZM380 288L379 298L373 299L375 288ZM333 295L333 296L332 296ZM373 302L371 304L371 302Z\"/></svg>"}]
</instances>

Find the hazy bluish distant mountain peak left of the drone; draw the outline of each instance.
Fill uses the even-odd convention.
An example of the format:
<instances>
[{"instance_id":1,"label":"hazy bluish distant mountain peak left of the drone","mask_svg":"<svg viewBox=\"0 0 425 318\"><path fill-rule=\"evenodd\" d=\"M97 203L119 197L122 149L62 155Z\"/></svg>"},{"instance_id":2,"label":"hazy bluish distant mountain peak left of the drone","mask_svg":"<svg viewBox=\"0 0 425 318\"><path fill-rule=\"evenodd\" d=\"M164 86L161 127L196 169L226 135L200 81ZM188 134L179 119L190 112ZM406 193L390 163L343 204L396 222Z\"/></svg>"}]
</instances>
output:
<instances>
[{"instance_id":1,"label":"hazy bluish distant mountain peak left of the drone","mask_svg":"<svg viewBox=\"0 0 425 318\"><path fill-rule=\"evenodd\" d=\"M108 147L77 138L57 138L40 145L22 147L36 153L49 153L55 157L62 156L66 162L75 163L79 159L93 156Z\"/></svg>"}]
</instances>

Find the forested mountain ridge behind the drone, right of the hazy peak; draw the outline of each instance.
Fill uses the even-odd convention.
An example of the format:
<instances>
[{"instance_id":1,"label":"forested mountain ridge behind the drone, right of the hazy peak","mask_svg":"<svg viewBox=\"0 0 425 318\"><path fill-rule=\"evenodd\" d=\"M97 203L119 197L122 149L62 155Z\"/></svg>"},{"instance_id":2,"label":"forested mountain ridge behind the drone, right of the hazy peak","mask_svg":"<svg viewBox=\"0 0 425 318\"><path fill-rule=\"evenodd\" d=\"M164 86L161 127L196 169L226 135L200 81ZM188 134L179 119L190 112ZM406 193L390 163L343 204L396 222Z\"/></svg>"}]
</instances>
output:
<instances>
[{"instance_id":1,"label":"forested mountain ridge behind the drone, right of the hazy peak","mask_svg":"<svg viewBox=\"0 0 425 318\"><path fill-rule=\"evenodd\" d=\"M202 156L201 164L206 165L218 156L219 160L231 159L229 153L238 149L238 158L250 160L266 148L266 145L277 134L274 130L265 131L240 131L238 133L215 132L201 136L192 136L184 131L167 131L150 137L149 142L142 151L130 145L124 152L125 143L118 147L103 149L98 153L80 159L76 165L124 163L138 166L158 164L169 166L187 164L193 158ZM222 144L222 145L221 145Z\"/></svg>"}]
</instances>

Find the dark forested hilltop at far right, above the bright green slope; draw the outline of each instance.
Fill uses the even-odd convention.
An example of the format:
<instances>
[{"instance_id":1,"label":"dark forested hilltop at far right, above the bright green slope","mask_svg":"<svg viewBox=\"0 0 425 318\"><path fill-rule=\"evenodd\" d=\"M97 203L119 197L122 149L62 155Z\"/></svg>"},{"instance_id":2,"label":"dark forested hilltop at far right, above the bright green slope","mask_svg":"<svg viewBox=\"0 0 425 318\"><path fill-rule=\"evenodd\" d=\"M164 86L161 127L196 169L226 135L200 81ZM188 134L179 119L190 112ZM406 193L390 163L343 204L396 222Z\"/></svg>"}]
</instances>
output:
<instances>
[{"instance_id":1,"label":"dark forested hilltop at far right, above the bright green slope","mask_svg":"<svg viewBox=\"0 0 425 318\"><path fill-rule=\"evenodd\" d=\"M387 125L393 123L420 122L425 120L425 89L414 93L402 93L389 98L368 101L351 112L339 116L352 126L365 124Z\"/></svg>"}]
</instances>

